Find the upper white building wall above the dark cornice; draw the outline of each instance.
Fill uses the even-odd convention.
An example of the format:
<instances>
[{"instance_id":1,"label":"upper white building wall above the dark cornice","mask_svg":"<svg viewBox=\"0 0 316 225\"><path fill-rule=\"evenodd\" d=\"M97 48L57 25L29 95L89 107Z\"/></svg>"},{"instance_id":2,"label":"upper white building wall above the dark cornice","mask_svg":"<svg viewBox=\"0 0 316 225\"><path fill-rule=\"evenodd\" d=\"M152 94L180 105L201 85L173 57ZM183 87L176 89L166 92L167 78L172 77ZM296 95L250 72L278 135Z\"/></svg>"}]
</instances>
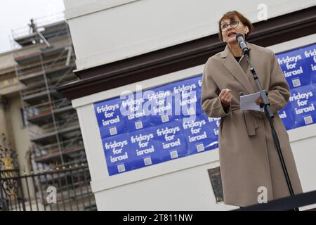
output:
<instances>
[{"instance_id":1,"label":"upper white building wall above the dark cornice","mask_svg":"<svg viewBox=\"0 0 316 225\"><path fill-rule=\"evenodd\" d=\"M218 32L223 13L237 10L258 21L258 4L268 18L315 5L315 0L64 0L77 68L130 58Z\"/></svg>"}]
</instances>

